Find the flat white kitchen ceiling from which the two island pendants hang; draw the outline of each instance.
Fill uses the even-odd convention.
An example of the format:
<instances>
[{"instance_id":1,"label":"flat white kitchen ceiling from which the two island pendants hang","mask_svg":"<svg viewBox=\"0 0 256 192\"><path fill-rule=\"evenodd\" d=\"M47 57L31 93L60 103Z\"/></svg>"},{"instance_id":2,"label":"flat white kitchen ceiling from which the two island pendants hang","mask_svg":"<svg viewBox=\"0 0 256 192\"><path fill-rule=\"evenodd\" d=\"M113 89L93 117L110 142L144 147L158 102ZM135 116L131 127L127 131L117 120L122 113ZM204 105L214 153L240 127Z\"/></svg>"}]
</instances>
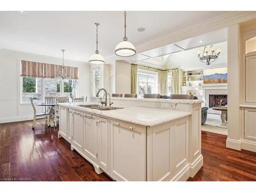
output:
<instances>
[{"instance_id":1,"label":"flat white kitchen ceiling from which the two island pendants hang","mask_svg":"<svg viewBox=\"0 0 256 192\"><path fill-rule=\"evenodd\" d=\"M224 11L127 11L127 37L135 47L204 22ZM0 48L88 61L95 52L95 25L100 23L99 52L114 54L123 38L122 11L0 11ZM137 32L138 28L144 32Z\"/></svg>"}]
</instances>

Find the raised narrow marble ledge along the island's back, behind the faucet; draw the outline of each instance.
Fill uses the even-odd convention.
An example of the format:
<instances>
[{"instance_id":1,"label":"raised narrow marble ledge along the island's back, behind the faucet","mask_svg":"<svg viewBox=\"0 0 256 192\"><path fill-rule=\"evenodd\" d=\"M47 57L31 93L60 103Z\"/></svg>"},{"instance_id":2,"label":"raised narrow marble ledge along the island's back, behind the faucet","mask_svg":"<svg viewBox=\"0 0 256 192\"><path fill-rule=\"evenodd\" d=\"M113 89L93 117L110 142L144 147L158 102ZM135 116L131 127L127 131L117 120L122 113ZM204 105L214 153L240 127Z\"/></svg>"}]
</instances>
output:
<instances>
[{"instance_id":1,"label":"raised narrow marble ledge along the island's back, behind the faucet","mask_svg":"<svg viewBox=\"0 0 256 192\"><path fill-rule=\"evenodd\" d=\"M91 98L100 98L91 96ZM111 100L131 100L131 101L153 101L153 102L170 102L170 103L186 103L196 104L204 102L201 99L156 99L156 98L124 98L124 97L111 97Z\"/></svg>"}]
</instances>

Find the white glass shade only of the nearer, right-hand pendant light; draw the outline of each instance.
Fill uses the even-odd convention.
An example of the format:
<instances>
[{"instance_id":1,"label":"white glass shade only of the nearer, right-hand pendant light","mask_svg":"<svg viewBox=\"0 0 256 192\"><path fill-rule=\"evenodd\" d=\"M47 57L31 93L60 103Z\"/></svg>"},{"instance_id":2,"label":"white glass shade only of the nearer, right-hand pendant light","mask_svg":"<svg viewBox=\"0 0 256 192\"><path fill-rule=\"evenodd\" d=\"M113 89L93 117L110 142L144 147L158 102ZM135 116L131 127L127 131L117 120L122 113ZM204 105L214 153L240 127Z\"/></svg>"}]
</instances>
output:
<instances>
[{"instance_id":1,"label":"white glass shade only of the nearer, right-hand pendant light","mask_svg":"<svg viewBox=\"0 0 256 192\"><path fill-rule=\"evenodd\" d=\"M121 57L130 57L136 54L136 50L131 42L124 40L116 46L115 54Z\"/></svg>"}]
</instances>

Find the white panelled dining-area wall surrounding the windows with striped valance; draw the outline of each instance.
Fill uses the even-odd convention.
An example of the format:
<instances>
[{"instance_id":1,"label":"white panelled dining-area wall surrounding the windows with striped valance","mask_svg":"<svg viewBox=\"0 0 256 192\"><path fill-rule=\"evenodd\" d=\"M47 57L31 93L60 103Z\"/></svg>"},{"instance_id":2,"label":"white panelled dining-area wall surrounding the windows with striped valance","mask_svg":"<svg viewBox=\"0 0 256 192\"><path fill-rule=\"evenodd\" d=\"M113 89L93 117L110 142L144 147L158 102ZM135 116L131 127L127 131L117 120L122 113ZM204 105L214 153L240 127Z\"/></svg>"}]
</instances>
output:
<instances>
[{"instance_id":1,"label":"white panelled dining-area wall surrounding the windows with striped valance","mask_svg":"<svg viewBox=\"0 0 256 192\"><path fill-rule=\"evenodd\" d=\"M0 50L0 123L32 119L31 104L20 103L20 60L62 65L62 59ZM66 66L79 68L78 96L90 96L90 65L65 60ZM38 112L41 107L37 107Z\"/></svg>"}]
</instances>

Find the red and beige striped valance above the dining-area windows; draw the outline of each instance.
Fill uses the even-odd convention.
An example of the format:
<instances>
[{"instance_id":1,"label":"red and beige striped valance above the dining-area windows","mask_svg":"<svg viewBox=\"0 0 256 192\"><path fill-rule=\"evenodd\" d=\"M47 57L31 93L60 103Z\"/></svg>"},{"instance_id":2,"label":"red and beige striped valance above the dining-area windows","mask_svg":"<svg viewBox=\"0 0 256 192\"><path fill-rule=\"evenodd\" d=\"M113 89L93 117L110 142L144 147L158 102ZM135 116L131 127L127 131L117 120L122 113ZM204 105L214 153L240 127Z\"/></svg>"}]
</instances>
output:
<instances>
[{"instance_id":1,"label":"red and beige striped valance above the dining-area windows","mask_svg":"<svg viewBox=\"0 0 256 192\"><path fill-rule=\"evenodd\" d=\"M62 66L22 60L22 77L55 78L61 74ZM65 74L78 79L78 68L65 66Z\"/></svg>"}]
</instances>

